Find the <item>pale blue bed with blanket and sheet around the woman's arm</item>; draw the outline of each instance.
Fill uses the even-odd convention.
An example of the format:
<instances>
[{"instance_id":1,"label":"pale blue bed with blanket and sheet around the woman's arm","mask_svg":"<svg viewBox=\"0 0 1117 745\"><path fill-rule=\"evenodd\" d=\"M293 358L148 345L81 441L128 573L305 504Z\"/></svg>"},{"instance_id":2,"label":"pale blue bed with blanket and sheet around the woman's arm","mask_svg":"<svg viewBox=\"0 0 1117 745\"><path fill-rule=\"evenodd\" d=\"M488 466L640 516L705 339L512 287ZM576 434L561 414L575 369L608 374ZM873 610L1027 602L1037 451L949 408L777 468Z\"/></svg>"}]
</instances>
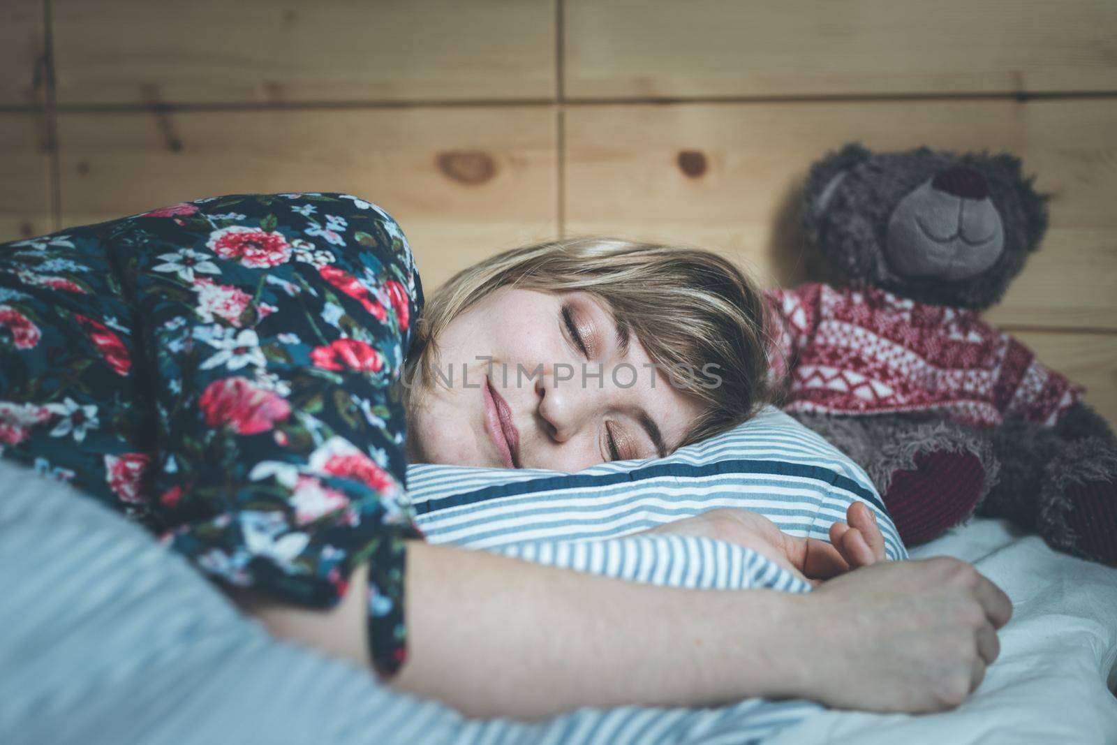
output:
<instances>
[{"instance_id":1,"label":"pale blue bed with blanket and sheet around the woman's arm","mask_svg":"<svg viewBox=\"0 0 1117 745\"><path fill-rule=\"evenodd\" d=\"M464 720L276 641L115 513L7 464L0 484L3 743L1117 742L1117 570L1057 554L1002 522L974 520L913 552L972 561L1015 603L1000 660L954 711L750 700L523 724ZM744 581L766 572L741 558Z\"/></svg>"}]
</instances>

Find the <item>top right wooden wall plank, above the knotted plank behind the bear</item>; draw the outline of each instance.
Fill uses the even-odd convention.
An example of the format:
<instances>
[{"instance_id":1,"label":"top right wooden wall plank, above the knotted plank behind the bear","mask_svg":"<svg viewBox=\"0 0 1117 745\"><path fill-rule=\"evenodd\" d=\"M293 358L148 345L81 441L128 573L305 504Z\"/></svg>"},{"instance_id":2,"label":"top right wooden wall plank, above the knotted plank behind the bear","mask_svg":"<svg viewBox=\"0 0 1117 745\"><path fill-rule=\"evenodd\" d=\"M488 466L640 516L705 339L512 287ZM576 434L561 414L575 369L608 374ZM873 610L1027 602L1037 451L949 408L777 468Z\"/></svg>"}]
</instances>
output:
<instances>
[{"instance_id":1,"label":"top right wooden wall plank, above the knotted plank behind the bear","mask_svg":"<svg viewBox=\"0 0 1117 745\"><path fill-rule=\"evenodd\" d=\"M1117 89L1113 0L567 0L583 98Z\"/></svg>"}]
</instances>

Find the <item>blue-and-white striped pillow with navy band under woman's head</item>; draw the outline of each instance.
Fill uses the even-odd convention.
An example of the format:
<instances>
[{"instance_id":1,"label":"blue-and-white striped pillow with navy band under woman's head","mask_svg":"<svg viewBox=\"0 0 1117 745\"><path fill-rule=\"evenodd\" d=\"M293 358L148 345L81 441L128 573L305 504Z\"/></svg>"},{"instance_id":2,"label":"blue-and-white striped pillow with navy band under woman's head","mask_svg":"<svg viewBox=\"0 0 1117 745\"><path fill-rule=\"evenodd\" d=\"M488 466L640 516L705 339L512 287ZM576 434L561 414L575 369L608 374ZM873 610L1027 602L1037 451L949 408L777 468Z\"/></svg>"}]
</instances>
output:
<instances>
[{"instance_id":1,"label":"blue-and-white striped pillow with navy band under woman's head","mask_svg":"<svg viewBox=\"0 0 1117 745\"><path fill-rule=\"evenodd\" d=\"M718 507L762 513L786 533L827 541L855 500L876 513L888 557L907 556L865 471L772 407L667 458L576 474L424 464L408 468L408 490L432 543L531 557L537 548L525 544L617 538Z\"/></svg>"}]
</instances>

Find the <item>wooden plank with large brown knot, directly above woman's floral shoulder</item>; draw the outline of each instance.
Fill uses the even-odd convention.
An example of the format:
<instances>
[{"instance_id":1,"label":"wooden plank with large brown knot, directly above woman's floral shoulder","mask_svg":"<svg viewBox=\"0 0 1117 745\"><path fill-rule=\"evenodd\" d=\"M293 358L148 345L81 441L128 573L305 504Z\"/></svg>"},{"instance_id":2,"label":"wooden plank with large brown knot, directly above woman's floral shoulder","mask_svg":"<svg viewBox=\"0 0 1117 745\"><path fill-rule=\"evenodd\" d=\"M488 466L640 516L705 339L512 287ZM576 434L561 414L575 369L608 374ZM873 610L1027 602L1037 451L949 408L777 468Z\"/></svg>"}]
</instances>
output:
<instances>
[{"instance_id":1,"label":"wooden plank with large brown knot, directly above woman's floral shoulder","mask_svg":"<svg viewBox=\"0 0 1117 745\"><path fill-rule=\"evenodd\" d=\"M226 193L347 192L395 217L433 288L556 232L555 121L537 106L63 113L63 222Z\"/></svg>"}]
</instances>

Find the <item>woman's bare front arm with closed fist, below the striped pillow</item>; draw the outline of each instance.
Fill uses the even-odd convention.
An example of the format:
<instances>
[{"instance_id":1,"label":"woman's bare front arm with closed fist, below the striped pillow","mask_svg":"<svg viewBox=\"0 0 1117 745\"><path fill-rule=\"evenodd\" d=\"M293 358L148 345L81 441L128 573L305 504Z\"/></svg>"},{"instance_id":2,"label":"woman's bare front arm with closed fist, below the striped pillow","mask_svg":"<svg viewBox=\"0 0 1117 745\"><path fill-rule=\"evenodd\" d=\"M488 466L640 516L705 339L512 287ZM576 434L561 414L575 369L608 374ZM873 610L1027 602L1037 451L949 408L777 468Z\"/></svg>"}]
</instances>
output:
<instances>
[{"instance_id":1,"label":"woman's bare front arm with closed fist, below the striped pillow","mask_svg":"<svg viewBox=\"0 0 1117 745\"><path fill-rule=\"evenodd\" d=\"M1012 612L945 557L878 563L808 594L661 588L420 542L407 562L409 655L388 682L475 717L750 696L939 710L981 682ZM367 665L365 571L327 612L233 595L277 637Z\"/></svg>"}]
</instances>

